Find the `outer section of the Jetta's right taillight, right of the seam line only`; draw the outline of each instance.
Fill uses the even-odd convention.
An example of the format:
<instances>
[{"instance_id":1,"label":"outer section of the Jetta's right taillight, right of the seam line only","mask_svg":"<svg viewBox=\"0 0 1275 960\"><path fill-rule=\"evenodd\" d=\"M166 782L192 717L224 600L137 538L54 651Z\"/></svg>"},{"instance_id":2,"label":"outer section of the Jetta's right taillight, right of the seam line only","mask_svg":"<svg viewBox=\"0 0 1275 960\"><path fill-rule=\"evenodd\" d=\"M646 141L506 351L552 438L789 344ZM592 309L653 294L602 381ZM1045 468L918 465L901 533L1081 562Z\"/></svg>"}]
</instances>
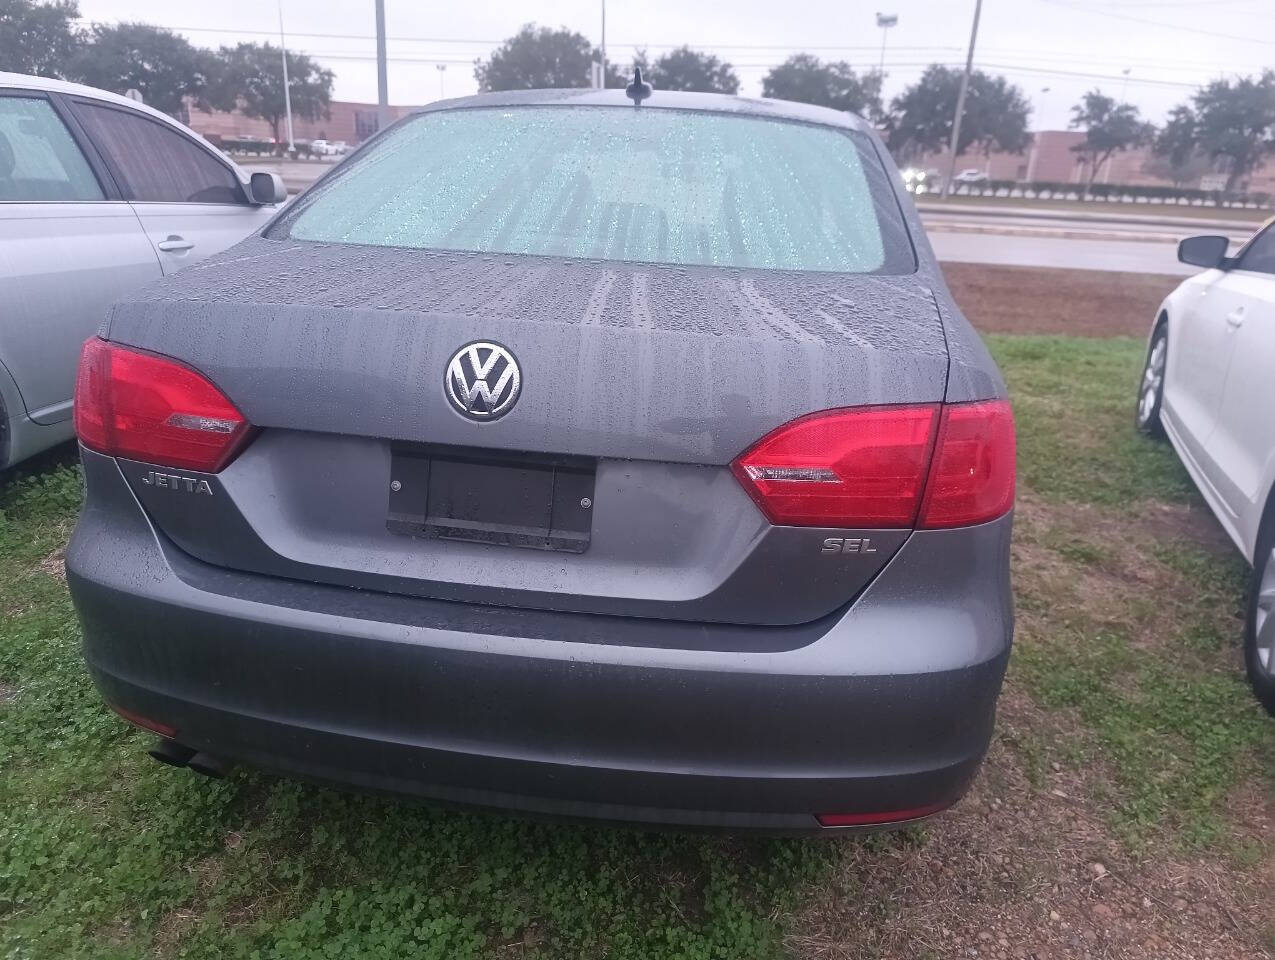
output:
<instances>
[{"instance_id":1,"label":"outer section of the Jetta's right taillight, right of the seam line only","mask_svg":"<svg viewBox=\"0 0 1275 960\"><path fill-rule=\"evenodd\" d=\"M969 527L1014 506L1014 413L1006 400L943 407L919 527Z\"/></svg>"}]
</instances>

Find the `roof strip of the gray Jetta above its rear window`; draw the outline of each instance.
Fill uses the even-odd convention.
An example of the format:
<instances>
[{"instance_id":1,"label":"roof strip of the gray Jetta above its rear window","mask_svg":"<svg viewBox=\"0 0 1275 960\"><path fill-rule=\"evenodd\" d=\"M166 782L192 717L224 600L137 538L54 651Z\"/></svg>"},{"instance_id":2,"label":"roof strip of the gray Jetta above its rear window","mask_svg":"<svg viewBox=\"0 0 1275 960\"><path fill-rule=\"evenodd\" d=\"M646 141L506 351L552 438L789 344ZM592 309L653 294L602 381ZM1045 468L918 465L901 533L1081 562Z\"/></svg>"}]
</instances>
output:
<instances>
[{"instance_id":1,"label":"roof strip of the gray Jetta above its rear window","mask_svg":"<svg viewBox=\"0 0 1275 960\"><path fill-rule=\"evenodd\" d=\"M516 107L516 106L588 106L588 107L627 107L634 103L622 89L543 89L543 91L501 91L499 93L479 93L473 97L436 101L417 112L436 110L458 110L465 107ZM769 97L736 97L727 93L686 93L682 91L655 89L641 110L697 110L714 113L745 113L771 120L797 120L807 124L839 126L848 130L868 133L872 126L859 116L830 107L815 107L810 103L794 103L787 99Z\"/></svg>"}]
</instances>

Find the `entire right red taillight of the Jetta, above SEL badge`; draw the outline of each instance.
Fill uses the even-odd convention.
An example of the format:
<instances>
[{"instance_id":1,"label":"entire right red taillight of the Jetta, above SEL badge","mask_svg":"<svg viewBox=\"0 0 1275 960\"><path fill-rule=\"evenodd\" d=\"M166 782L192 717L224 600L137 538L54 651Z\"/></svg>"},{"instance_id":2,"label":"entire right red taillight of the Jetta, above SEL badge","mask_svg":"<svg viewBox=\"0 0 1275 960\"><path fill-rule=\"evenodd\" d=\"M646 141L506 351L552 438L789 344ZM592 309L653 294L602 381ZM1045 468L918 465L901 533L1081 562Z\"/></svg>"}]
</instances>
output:
<instances>
[{"instance_id":1,"label":"entire right red taillight of the Jetta, above SEL badge","mask_svg":"<svg viewBox=\"0 0 1275 960\"><path fill-rule=\"evenodd\" d=\"M1005 400L827 411L766 435L732 469L774 524L977 524L1014 502L1014 417Z\"/></svg>"}]
</instances>

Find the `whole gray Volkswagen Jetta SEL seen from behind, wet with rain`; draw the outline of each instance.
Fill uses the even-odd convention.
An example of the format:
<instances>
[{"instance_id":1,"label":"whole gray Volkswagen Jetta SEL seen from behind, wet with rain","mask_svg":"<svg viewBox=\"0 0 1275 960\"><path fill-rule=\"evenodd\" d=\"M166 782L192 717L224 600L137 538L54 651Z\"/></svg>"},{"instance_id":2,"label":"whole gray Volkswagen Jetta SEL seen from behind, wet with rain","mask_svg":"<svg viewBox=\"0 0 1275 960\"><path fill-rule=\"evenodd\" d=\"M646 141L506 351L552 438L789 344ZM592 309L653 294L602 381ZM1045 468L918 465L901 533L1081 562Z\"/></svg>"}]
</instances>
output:
<instances>
[{"instance_id":1,"label":"whole gray Volkswagen Jetta SEL seen from behind, wet with rain","mask_svg":"<svg viewBox=\"0 0 1275 960\"><path fill-rule=\"evenodd\" d=\"M84 653L167 762L821 830L987 748L1014 423L845 113L440 103L116 305L75 421Z\"/></svg>"}]
</instances>

